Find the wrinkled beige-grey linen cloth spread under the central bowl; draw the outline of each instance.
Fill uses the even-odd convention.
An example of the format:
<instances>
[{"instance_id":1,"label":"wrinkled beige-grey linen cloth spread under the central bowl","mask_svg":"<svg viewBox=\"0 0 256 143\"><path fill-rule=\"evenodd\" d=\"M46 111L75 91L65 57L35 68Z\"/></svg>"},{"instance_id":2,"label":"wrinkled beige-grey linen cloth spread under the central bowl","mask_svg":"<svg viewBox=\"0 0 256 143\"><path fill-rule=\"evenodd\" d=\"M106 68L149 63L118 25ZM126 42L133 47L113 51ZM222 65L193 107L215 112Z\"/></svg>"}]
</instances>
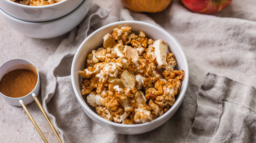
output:
<instances>
[{"instance_id":1,"label":"wrinkled beige-grey linen cloth spread under the central bowl","mask_svg":"<svg viewBox=\"0 0 256 143\"><path fill-rule=\"evenodd\" d=\"M43 107L63 142L256 142L256 13L251 12L252 5L256 2L246 0L242 8L234 0L223 11L203 15L174 0L158 13L121 7L119 17L93 5L40 70ZM165 29L181 44L189 66L189 84L177 112L159 128L139 135L117 134L96 124L80 107L71 84L71 64L80 43L97 28L123 20Z\"/></svg>"}]
</instances>

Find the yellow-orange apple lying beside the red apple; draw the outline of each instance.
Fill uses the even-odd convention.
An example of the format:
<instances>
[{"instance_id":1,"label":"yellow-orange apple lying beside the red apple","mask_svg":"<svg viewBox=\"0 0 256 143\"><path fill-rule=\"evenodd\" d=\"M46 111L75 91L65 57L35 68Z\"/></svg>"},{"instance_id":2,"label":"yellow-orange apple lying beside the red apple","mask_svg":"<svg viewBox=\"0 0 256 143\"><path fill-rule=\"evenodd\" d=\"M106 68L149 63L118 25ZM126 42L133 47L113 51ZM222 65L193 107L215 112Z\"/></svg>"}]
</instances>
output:
<instances>
[{"instance_id":1,"label":"yellow-orange apple lying beside the red apple","mask_svg":"<svg viewBox=\"0 0 256 143\"><path fill-rule=\"evenodd\" d=\"M120 0L124 7L134 12L160 12L169 6L172 0Z\"/></svg>"}]
</instances>

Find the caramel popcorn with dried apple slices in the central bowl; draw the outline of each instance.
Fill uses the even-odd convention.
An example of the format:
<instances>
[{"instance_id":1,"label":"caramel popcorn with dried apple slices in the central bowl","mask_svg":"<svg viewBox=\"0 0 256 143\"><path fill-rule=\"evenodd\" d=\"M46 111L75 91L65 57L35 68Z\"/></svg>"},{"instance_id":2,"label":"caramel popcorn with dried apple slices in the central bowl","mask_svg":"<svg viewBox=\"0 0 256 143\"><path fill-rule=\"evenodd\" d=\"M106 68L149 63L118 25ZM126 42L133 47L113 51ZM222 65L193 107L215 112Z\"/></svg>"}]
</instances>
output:
<instances>
[{"instance_id":1,"label":"caramel popcorn with dried apple slices in the central bowl","mask_svg":"<svg viewBox=\"0 0 256 143\"><path fill-rule=\"evenodd\" d=\"M103 47L87 55L81 94L97 114L122 124L149 122L175 103L184 71L163 40L136 35L131 27L115 28L103 37Z\"/></svg>"}]
</instances>

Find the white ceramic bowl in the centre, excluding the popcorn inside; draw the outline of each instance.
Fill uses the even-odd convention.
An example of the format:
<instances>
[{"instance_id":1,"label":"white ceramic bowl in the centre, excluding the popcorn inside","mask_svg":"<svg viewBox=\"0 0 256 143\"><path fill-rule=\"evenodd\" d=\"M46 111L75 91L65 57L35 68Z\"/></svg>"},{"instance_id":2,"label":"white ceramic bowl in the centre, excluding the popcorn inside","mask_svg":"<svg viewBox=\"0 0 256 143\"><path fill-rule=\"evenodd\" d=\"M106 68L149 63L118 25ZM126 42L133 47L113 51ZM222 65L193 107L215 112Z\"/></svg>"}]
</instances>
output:
<instances>
[{"instance_id":1,"label":"white ceramic bowl in the centre, excluding the popcorn inside","mask_svg":"<svg viewBox=\"0 0 256 143\"><path fill-rule=\"evenodd\" d=\"M132 32L139 34L139 31L142 30L145 32L146 37L152 38L153 40L162 39L169 45L169 50L174 54L174 57L177 61L177 65L175 69L177 70L184 70L185 71L185 78L183 80L180 94L174 105L162 116L157 119L154 119L150 122L141 123L141 124L134 124L134 125L127 125L127 124L120 124L115 123L106 119L101 118L97 115L96 110L85 101L80 93L81 87L79 82L82 82L82 78L79 76L78 71L82 71L85 69L86 63L86 55L91 53L92 50L96 50L97 48L101 47L103 44L103 37L107 33L113 33L113 29L122 26L130 26L132 27ZM71 80L72 85L75 91L75 96L83 108L84 112L96 123L101 125L102 127L106 128L107 130L119 133L119 134L141 134L146 133L151 130L156 129L157 127L161 126L165 123L168 119L170 119L173 114L179 108L188 85L188 65L186 57L181 49L181 46L178 42L169 35L163 29L154 26L152 24L139 22L139 21L120 21L112 24L105 25L91 35L89 35L79 46L77 49L72 67L71 67ZM93 110L94 109L94 110Z\"/></svg>"}]
</instances>

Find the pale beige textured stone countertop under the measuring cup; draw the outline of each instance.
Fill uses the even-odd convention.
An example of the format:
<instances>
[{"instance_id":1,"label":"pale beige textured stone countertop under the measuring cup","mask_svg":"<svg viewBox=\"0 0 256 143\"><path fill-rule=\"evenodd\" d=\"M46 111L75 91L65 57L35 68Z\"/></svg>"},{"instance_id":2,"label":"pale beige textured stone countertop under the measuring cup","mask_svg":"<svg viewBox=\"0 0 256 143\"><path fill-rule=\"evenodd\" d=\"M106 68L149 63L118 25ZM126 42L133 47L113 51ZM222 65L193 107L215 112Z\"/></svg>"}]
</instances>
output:
<instances>
[{"instance_id":1,"label":"pale beige textured stone countertop under the measuring cup","mask_svg":"<svg viewBox=\"0 0 256 143\"><path fill-rule=\"evenodd\" d=\"M112 11L111 14L115 14L113 12L115 10L111 6L114 0L94 0L93 2L101 7L110 9ZM115 3L121 5L119 1ZM47 57L55 52L59 43L68 34L53 39L33 39L15 31L0 17L0 64L13 58L25 58L40 69L43 67ZM41 95L38 96L38 99L41 102ZM32 102L26 107L48 142L58 142L37 104ZM24 109L6 103L2 97L0 97L0 130L1 143L43 142Z\"/></svg>"}]
</instances>

